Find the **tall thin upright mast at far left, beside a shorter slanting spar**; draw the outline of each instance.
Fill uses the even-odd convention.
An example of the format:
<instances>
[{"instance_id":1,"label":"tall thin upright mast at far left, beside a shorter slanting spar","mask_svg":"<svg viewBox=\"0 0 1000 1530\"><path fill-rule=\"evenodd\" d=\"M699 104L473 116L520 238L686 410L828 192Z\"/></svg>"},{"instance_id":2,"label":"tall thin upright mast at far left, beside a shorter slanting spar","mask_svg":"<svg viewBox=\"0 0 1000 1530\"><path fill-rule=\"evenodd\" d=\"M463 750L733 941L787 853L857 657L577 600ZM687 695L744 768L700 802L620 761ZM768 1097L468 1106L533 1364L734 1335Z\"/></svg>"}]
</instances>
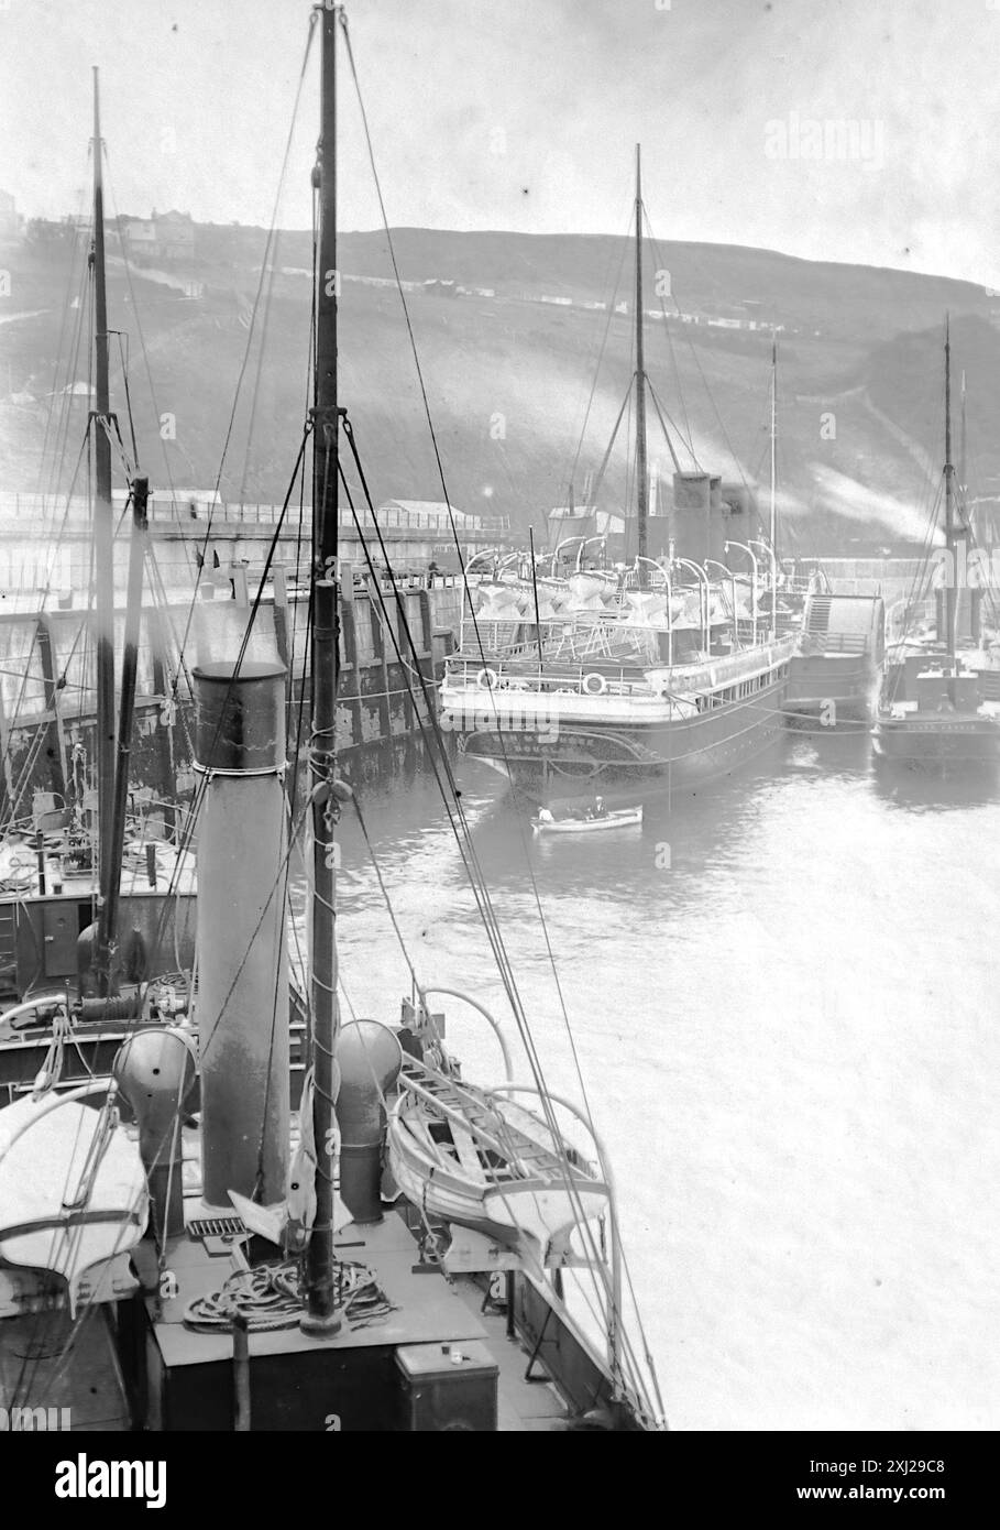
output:
<instances>
[{"instance_id":1,"label":"tall thin upright mast at far left, beside a shorter slanting spar","mask_svg":"<svg viewBox=\"0 0 1000 1530\"><path fill-rule=\"evenodd\" d=\"M110 946L107 903L112 883L112 828L115 805L115 517L112 508L112 442L107 430L110 392L107 378L107 288L104 272L104 173L101 147L101 96L93 70L93 617L96 626L96 768L98 768L98 982L107 993ZM109 910L110 912L110 910Z\"/></svg>"}]
</instances>

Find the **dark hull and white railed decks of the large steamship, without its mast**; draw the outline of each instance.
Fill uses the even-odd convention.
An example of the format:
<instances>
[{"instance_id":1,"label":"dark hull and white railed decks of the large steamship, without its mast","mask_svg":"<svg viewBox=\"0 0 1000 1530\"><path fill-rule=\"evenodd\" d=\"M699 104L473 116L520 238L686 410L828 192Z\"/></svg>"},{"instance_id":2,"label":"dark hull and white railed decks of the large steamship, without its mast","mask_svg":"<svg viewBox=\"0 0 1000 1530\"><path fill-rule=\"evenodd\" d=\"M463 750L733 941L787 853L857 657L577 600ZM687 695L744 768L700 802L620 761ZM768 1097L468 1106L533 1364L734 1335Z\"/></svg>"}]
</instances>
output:
<instances>
[{"instance_id":1,"label":"dark hull and white railed decks of the large steamship, without its mast","mask_svg":"<svg viewBox=\"0 0 1000 1530\"><path fill-rule=\"evenodd\" d=\"M780 733L797 638L761 633L739 578L699 589L654 568L639 588L581 572L546 598L550 615L520 624L538 638L460 650L440 690L460 751L529 796L697 788ZM494 629L476 620L479 636Z\"/></svg>"}]
</instances>

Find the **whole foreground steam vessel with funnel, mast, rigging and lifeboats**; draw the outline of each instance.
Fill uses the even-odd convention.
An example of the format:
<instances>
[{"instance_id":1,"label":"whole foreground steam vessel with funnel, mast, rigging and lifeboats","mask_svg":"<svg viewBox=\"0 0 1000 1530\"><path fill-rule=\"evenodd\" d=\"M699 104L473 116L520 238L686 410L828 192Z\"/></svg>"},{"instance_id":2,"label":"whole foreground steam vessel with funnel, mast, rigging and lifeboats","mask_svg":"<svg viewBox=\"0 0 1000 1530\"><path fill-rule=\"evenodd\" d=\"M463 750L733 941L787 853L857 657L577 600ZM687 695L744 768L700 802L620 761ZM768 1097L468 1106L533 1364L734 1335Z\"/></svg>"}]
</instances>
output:
<instances>
[{"instance_id":1,"label":"whole foreground steam vessel with funnel, mast, rigging and lifeboats","mask_svg":"<svg viewBox=\"0 0 1000 1530\"><path fill-rule=\"evenodd\" d=\"M359 793L341 777L336 750L339 606L353 589L338 549L339 491L355 505L347 468L373 519L375 511L336 386L338 37L355 86L358 75L344 11L332 0L312 11L306 58L317 34L306 802L289 800L284 666L251 643L258 591L235 659L199 653L191 672L193 1024L133 1017L110 1076L60 1092L49 1069L0 1111L3 1400L29 1406L58 1379L78 1406L102 1368L124 1379L122 1420L145 1429L326 1429L330 1418L347 1431L517 1429L529 1427L531 1414L517 1401L531 1394L523 1359L514 1374L505 1365L509 1339L518 1337L529 1371L543 1363L557 1389L550 1427L657 1429L662 1403L636 1320L610 1167L590 1108L546 1083L419 664L416 715L532 1082L514 1083L509 1066L491 1088L460 1076L431 1007L440 990L419 982L410 956L413 991L398 1027L339 1019L341 812L356 812L364 832ZM364 106L361 113L367 139ZM391 246L388 228L387 237ZM376 536L385 557L378 520ZM373 571L367 543L365 562ZM381 584L378 598L384 604ZM404 610L393 643L401 656L416 656ZM107 707L102 716L107 722ZM118 799L112 822L121 825ZM284 924L291 860L306 825L309 1071L294 1121ZM393 927L402 939L394 918ZM99 975L107 920L101 936ZM109 1004L110 984L99 982ZM486 1021L509 1065L503 1028L483 1001L446 991ZM584 1129L586 1149L564 1134L557 1109ZM281 1245L277 1261L269 1239ZM24 1354L31 1363L18 1360Z\"/></svg>"}]
</instances>

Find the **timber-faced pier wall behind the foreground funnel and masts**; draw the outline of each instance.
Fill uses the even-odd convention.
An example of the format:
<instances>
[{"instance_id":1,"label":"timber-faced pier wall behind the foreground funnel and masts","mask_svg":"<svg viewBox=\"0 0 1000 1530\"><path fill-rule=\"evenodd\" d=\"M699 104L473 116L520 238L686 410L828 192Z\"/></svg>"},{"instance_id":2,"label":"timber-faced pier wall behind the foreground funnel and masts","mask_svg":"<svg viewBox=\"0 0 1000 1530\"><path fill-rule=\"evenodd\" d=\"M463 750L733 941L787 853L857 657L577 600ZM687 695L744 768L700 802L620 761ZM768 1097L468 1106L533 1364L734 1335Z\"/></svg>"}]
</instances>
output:
<instances>
[{"instance_id":1,"label":"timber-faced pier wall behind the foreground funnel and masts","mask_svg":"<svg viewBox=\"0 0 1000 1530\"><path fill-rule=\"evenodd\" d=\"M141 620L131 782L148 811L194 789L190 670L213 658L245 653L280 659L289 670L289 739L309 737L307 600L265 595L248 640L251 604L232 571L208 581L202 598L147 604ZM219 588L225 586L225 589ZM235 598L234 598L235 591ZM252 586L251 586L252 600ZM454 646L460 609L457 581L398 594L356 584L341 610L338 750L349 779L378 779L416 762L427 705ZM407 638L410 632L413 649ZM116 614L116 652L124 610ZM179 655L183 650L183 661ZM413 687L411 682L413 681ZM414 692L416 698L414 699ZM66 797L69 785L93 786L95 659L89 612L0 607L0 817L28 820L35 793Z\"/></svg>"}]
</instances>

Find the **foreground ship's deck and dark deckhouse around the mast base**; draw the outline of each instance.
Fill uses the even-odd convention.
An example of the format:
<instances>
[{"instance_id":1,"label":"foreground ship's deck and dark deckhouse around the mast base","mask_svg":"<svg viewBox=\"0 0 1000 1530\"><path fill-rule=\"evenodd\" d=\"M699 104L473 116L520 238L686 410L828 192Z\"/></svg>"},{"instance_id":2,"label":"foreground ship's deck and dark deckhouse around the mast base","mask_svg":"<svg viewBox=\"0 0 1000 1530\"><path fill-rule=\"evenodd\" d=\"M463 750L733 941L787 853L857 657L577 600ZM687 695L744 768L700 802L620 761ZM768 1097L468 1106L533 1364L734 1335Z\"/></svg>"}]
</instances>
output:
<instances>
[{"instance_id":1,"label":"foreground ship's deck and dark deckhouse around the mast base","mask_svg":"<svg viewBox=\"0 0 1000 1530\"><path fill-rule=\"evenodd\" d=\"M139 1291L116 1313L92 1308L69 1359L69 1319L46 1313L43 1330L37 1313L6 1317L0 1397L18 1397L31 1365L34 1397L72 1431L356 1432L385 1431L387 1420L401 1432L606 1427L602 1379L531 1281L509 1274L498 1291L495 1276L446 1281L420 1258L413 1221L410 1210L352 1222L336 1241L338 1256L364 1264L391 1310L346 1322L332 1339L298 1325L251 1333L245 1389L232 1333L185 1325L190 1304L239 1276L243 1261L232 1239L185 1232L168 1244L167 1284L150 1244L136 1258L144 1285L173 1294ZM141 1375L141 1391L128 1395L122 1374Z\"/></svg>"}]
</instances>

